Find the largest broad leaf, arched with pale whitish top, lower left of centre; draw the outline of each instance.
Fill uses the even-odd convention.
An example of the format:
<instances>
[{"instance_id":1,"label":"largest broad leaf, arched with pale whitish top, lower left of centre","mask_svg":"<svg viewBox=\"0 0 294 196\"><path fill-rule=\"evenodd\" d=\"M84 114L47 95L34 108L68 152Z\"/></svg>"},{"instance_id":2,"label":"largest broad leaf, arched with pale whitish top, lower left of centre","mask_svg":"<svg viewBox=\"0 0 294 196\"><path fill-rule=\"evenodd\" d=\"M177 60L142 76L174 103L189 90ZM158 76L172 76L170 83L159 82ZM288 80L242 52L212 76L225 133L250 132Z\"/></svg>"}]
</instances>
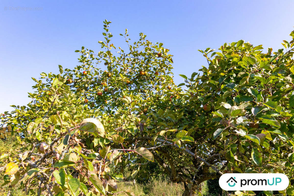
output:
<instances>
[{"instance_id":1,"label":"largest broad leaf, arched with pale whitish top, lower left of centre","mask_svg":"<svg viewBox=\"0 0 294 196\"><path fill-rule=\"evenodd\" d=\"M96 118L84 119L78 129L80 131L90 132L95 136L100 135L101 137L104 137L105 135L105 130L102 123Z\"/></svg>"}]
</instances>

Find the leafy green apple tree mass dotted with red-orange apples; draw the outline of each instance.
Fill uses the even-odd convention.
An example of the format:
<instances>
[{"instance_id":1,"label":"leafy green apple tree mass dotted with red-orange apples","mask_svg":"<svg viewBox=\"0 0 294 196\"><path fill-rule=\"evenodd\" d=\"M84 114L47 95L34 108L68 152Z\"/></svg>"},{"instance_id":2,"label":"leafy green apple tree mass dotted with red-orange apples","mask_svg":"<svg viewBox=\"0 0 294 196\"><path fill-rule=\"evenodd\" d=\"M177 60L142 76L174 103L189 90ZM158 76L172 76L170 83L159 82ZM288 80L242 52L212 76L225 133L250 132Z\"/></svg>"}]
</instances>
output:
<instances>
[{"instance_id":1,"label":"leafy green apple tree mass dotted with red-orange apples","mask_svg":"<svg viewBox=\"0 0 294 196\"><path fill-rule=\"evenodd\" d=\"M200 50L208 68L181 75L185 83L176 86L172 55L162 43L140 33L131 44L126 30L125 52L111 43L109 24L104 21L99 41L103 51L82 47L80 65L33 78L32 101L5 112L2 123L24 133L25 142L21 154L3 157L15 163L6 168L3 186L29 185L38 195L133 195L117 190L123 167L111 173L111 164L129 165L132 178L168 175L183 182L183 196L224 172L293 178L293 40L284 41L286 52L262 53L261 45L243 40L225 43L220 52ZM106 71L97 68L101 63ZM160 167L146 173L154 161Z\"/></svg>"}]
</instances>

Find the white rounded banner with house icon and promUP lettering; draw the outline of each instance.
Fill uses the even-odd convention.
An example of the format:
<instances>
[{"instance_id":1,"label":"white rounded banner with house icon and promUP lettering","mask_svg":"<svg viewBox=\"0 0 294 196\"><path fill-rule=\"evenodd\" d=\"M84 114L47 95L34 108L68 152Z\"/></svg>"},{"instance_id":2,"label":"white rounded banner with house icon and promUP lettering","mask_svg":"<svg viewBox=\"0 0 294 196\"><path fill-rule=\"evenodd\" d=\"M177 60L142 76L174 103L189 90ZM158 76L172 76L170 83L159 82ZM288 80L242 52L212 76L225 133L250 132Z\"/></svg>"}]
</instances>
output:
<instances>
[{"instance_id":1,"label":"white rounded banner with house icon and promUP lettering","mask_svg":"<svg viewBox=\"0 0 294 196\"><path fill-rule=\"evenodd\" d=\"M223 190L285 190L289 178L281 173L226 173L218 181Z\"/></svg>"}]
</instances>

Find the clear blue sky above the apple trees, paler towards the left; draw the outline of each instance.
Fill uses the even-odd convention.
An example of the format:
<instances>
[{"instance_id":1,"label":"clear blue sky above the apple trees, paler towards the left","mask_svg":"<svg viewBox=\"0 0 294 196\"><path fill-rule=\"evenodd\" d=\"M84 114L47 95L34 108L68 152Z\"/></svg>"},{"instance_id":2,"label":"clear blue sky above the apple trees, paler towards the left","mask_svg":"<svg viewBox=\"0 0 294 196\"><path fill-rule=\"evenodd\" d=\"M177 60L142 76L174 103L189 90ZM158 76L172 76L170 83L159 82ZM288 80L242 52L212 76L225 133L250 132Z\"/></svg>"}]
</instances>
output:
<instances>
[{"instance_id":1,"label":"clear blue sky above the apple trees, paler towards the left","mask_svg":"<svg viewBox=\"0 0 294 196\"><path fill-rule=\"evenodd\" d=\"M26 8L39 10L23 10ZM41 10L40 10L41 8ZM16 9L16 10L14 10ZM81 46L99 51L104 19L112 21L115 46L127 48L119 33L127 28L136 41L143 32L174 55L174 81L191 76L206 59L198 49L250 41L274 51L290 40L294 0L104 0L0 1L0 113L9 105L26 105L41 72L58 73L58 65L78 65Z\"/></svg>"}]
</instances>

